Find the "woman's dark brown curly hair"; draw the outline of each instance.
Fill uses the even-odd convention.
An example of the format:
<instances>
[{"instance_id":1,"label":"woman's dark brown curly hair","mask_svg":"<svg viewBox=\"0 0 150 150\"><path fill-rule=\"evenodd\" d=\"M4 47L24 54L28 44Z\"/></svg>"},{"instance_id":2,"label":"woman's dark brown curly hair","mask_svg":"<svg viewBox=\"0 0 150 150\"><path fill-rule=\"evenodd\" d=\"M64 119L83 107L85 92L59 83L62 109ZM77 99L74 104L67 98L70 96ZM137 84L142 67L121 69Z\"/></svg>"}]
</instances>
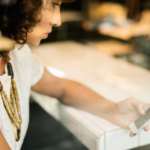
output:
<instances>
[{"instance_id":1,"label":"woman's dark brown curly hair","mask_svg":"<svg viewBox=\"0 0 150 150\"><path fill-rule=\"evenodd\" d=\"M9 6L0 6L0 30L4 36L25 44L27 33L40 21L43 0L15 0ZM74 0L62 0L73 2Z\"/></svg>"}]
</instances>

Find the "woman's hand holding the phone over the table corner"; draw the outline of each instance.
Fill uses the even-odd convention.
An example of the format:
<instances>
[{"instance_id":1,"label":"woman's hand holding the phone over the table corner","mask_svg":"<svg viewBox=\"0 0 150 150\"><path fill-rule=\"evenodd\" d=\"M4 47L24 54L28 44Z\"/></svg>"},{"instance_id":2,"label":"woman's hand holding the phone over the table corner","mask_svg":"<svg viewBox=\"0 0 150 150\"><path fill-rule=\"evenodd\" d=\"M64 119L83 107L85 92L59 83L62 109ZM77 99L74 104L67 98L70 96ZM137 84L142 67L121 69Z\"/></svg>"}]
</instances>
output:
<instances>
[{"instance_id":1,"label":"woman's hand holding the phone over the table corner","mask_svg":"<svg viewBox=\"0 0 150 150\"><path fill-rule=\"evenodd\" d=\"M116 105L112 122L123 128L129 128L130 123L138 116L144 115L149 107L150 104L142 103L135 98L128 98ZM145 126L144 130L148 131L149 126ZM130 132L130 136L134 136L133 133Z\"/></svg>"}]
</instances>

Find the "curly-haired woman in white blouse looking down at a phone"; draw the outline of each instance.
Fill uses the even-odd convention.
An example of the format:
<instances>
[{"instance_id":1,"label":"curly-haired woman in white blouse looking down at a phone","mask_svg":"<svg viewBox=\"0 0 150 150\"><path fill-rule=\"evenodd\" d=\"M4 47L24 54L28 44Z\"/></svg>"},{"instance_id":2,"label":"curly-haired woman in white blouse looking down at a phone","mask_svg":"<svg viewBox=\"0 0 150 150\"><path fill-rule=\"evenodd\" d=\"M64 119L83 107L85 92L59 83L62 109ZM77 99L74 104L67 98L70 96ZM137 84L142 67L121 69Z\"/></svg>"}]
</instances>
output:
<instances>
[{"instance_id":1,"label":"curly-haired woman in white blouse looking down at a phone","mask_svg":"<svg viewBox=\"0 0 150 150\"><path fill-rule=\"evenodd\" d=\"M19 103L16 102L15 112L5 105L6 96L0 97L0 149L20 150L29 120L29 96L33 91L53 96L60 102L99 115L114 124L128 128L129 124L150 106L134 98L119 103L111 102L98 95L84 85L60 79L49 73L37 58L31 55L28 47L36 47L42 39L46 39L52 32L52 27L61 25L60 5L71 0L16 0L9 7L1 7L0 30L3 35L15 40L18 44L8 53L1 52L0 81L10 96L10 88L18 91ZM20 50L19 50L20 49ZM11 71L5 68L12 63L14 81ZM7 73L8 72L8 73ZM7 74L10 74L8 76ZM16 82L16 87L11 80ZM11 99L17 94L11 90ZM12 104L13 106L13 104ZM20 111L21 110L21 111ZM9 112L12 111L12 114ZM15 119L18 119L18 124ZM14 120L13 120L14 119ZM145 127L148 130L148 127ZM21 134L19 136L19 131ZM130 136L133 136L130 133Z\"/></svg>"}]
</instances>

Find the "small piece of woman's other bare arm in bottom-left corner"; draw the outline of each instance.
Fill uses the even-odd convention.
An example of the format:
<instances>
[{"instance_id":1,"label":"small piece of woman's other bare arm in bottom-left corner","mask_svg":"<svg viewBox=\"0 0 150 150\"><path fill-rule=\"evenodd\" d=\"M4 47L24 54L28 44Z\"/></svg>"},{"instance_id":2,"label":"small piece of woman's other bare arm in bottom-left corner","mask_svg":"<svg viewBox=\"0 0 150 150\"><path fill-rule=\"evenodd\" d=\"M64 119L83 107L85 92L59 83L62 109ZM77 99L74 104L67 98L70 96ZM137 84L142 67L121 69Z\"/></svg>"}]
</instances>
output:
<instances>
[{"instance_id":1,"label":"small piece of woman's other bare arm in bottom-left corner","mask_svg":"<svg viewBox=\"0 0 150 150\"><path fill-rule=\"evenodd\" d=\"M0 130L0 150L11 150Z\"/></svg>"}]
</instances>

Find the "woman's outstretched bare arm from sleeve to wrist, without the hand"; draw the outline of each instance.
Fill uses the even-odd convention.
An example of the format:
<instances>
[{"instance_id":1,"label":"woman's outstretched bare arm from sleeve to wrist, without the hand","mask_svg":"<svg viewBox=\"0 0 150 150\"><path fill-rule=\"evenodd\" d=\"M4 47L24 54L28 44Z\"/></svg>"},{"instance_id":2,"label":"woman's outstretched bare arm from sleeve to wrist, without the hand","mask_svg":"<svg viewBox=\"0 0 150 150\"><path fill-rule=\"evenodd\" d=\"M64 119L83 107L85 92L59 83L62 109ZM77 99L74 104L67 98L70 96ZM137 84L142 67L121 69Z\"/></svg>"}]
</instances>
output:
<instances>
[{"instance_id":1,"label":"woman's outstretched bare arm from sleeve to wrist, without the hand","mask_svg":"<svg viewBox=\"0 0 150 150\"><path fill-rule=\"evenodd\" d=\"M110 121L116 106L116 103L105 99L90 88L72 80L57 78L46 69L43 78L32 87L32 90Z\"/></svg>"}]
</instances>

